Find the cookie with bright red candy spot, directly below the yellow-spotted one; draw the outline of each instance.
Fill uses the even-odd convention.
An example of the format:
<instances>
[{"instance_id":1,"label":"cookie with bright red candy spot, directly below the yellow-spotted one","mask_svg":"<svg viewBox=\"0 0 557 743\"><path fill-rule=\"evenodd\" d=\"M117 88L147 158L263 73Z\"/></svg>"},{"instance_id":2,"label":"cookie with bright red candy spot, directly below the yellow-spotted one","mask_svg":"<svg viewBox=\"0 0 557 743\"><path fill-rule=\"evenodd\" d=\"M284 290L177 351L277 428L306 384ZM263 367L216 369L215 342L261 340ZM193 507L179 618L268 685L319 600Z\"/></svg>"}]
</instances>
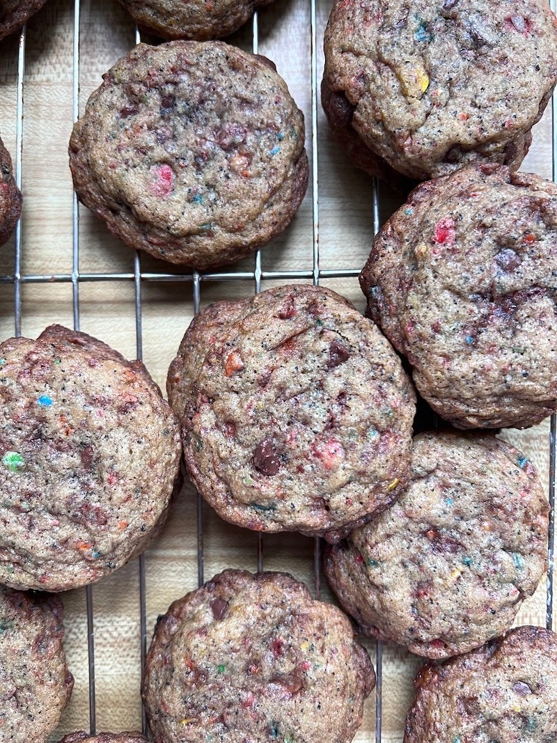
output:
<instances>
[{"instance_id":1,"label":"cookie with bright red candy spot, directly below the yellow-spotted one","mask_svg":"<svg viewBox=\"0 0 557 743\"><path fill-rule=\"evenodd\" d=\"M557 186L501 166L422 184L360 283L371 317L458 428L526 428L557 408Z\"/></svg>"}]
</instances>

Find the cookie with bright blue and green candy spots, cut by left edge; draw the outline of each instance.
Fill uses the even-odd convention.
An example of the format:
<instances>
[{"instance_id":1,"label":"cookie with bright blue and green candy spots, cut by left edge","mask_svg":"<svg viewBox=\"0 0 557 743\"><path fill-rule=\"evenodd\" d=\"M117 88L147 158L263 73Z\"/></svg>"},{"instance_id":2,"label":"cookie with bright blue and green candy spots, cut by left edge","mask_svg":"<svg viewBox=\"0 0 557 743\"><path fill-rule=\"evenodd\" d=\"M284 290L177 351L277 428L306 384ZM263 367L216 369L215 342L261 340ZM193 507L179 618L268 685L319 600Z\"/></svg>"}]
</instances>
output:
<instances>
[{"instance_id":1,"label":"cookie with bright blue and green candy spots, cut by left edge","mask_svg":"<svg viewBox=\"0 0 557 743\"><path fill-rule=\"evenodd\" d=\"M145 367L52 325L0 344L0 583L65 591L162 525L180 435Z\"/></svg>"}]
</instances>

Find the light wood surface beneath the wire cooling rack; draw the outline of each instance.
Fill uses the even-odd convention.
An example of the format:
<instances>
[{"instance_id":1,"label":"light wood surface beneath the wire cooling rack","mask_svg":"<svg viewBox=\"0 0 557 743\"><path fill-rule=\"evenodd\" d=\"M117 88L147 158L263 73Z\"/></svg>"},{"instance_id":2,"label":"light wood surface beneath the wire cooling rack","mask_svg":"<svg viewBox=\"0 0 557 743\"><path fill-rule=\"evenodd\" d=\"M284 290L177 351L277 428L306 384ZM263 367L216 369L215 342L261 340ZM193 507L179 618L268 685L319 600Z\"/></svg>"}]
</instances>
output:
<instances>
[{"instance_id":1,"label":"light wood surface beneath the wire cooling rack","mask_svg":"<svg viewBox=\"0 0 557 743\"><path fill-rule=\"evenodd\" d=\"M322 71L322 35L330 0L317 1L318 76ZM310 0L276 0L258 16L259 51L276 62L307 122L307 149L311 159L311 45ZM71 273L72 188L68 169L68 139L72 126L73 0L49 0L27 25L25 57L25 120L22 190L22 272ZM134 26L116 0L82 0L79 80L80 110L100 77L134 45ZM250 49L251 27L230 39ZM19 35L0 42L0 128L4 143L15 152L16 77ZM319 237L321 266L326 269L362 267L373 233L371 182L347 161L328 132L318 106ZM549 112L548 112L549 113ZM546 115L535 132L535 144L523 169L551 178L551 124ZM396 206L381 192L382 218ZM82 273L133 272L134 254L111 237L104 224L80 208ZM289 230L262 254L264 270L311 270L313 212L311 186ZM0 251L0 275L13 273L13 241ZM168 272L168 266L142 259L143 270ZM229 268L252 270L253 258ZM364 306L356 279L324 282ZM268 288L270 282L263 282ZM254 283L206 282L201 285L205 304L254 291ZM166 370L192 317L189 282L143 282L143 357L154 379L165 386ZM82 330L94 334L134 357L134 283L82 283L79 288ZM45 325L72 325L71 285L26 284L22 290L22 333L36 337ZM13 335L13 286L0 283L0 340ZM505 432L540 470L548 485L549 428L542 424L528 432ZM184 487L163 535L146 556L149 638L157 614L197 585L195 493ZM205 577L225 567L256 568L255 533L221 522L205 509ZM313 540L296 534L264 539L264 567L290 571L313 587ZM327 586L322 595L330 599ZM139 590L137 561L94 586L95 671L97 730L137 729L141 724ZM64 596L65 647L75 676L74 695L62 720L58 738L87 728L88 662L85 591ZM544 623L545 583L522 609L518 623ZM365 642L374 658L374 643ZM400 742L411 699L411 679L417 658L394 645L383 655L382 739ZM365 721L357 742L374 739L374 694L365 707Z\"/></svg>"}]
</instances>

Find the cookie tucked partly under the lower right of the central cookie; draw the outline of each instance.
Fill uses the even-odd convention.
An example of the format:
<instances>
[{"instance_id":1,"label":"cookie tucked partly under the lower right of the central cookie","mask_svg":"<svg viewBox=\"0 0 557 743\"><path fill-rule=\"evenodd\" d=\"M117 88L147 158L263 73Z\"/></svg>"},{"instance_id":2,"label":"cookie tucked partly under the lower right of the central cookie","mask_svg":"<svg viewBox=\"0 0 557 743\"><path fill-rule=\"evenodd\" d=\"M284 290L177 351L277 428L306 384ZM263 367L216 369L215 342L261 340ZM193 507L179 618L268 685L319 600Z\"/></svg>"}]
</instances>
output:
<instances>
[{"instance_id":1,"label":"cookie tucked partly under the lower right of the central cookie","mask_svg":"<svg viewBox=\"0 0 557 743\"><path fill-rule=\"evenodd\" d=\"M512 625L546 567L548 512L515 447L420 434L405 491L328 552L325 572L366 635L447 658Z\"/></svg>"}]
</instances>

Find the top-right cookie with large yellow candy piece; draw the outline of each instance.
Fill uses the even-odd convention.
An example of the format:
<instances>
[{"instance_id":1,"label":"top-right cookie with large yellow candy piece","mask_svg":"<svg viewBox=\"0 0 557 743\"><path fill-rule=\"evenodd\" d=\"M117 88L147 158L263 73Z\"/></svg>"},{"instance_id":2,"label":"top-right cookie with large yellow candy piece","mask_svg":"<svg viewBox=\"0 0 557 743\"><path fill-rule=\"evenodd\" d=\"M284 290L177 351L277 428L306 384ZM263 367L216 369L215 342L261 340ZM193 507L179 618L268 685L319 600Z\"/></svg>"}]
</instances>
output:
<instances>
[{"instance_id":1,"label":"top-right cookie with large yellow candy piece","mask_svg":"<svg viewBox=\"0 0 557 743\"><path fill-rule=\"evenodd\" d=\"M416 180L517 169L557 80L555 16L546 0L336 0L324 80L325 113L345 108L359 158Z\"/></svg>"}]
</instances>

